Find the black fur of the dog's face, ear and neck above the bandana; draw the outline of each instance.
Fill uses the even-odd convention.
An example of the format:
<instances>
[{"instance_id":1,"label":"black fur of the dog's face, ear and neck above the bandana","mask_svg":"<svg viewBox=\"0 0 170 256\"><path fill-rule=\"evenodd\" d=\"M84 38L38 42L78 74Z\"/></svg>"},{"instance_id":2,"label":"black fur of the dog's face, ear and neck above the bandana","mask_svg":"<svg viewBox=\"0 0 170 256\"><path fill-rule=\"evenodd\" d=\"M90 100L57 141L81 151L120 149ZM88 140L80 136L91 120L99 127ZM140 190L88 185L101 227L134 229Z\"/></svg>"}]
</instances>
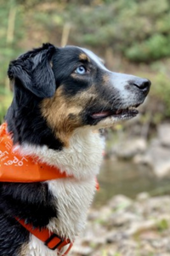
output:
<instances>
[{"instance_id":1,"label":"black fur of the dog's face, ear and neck above the bandana","mask_svg":"<svg viewBox=\"0 0 170 256\"><path fill-rule=\"evenodd\" d=\"M11 61L8 77L14 81L14 100L8 109L6 121L14 143L47 145L48 148L57 150L63 148L63 143L54 137L53 131L43 119L40 104L44 97L53 96L61 84L65 96L74 96L88 89L93 83L101 84L102 75L101 72L98 73L98 67L93 66L93 63L89 64L88 61L80 61L81 53L82 49L77 47L55 48L52 44L43 44L42 48L28 51L17 60ZM50 61L53 68L49 65ZM71 73L80 64L87 69L90 68L91 75L83 79L74 79ZM102 89L96 87L96 90ZM90 113L94 110L101 111L103 106L95 109L94 105L96 104L91 102L82 113L84 125L95 125L99 122L92 119Z\"/></svg>"}]
</instances>

